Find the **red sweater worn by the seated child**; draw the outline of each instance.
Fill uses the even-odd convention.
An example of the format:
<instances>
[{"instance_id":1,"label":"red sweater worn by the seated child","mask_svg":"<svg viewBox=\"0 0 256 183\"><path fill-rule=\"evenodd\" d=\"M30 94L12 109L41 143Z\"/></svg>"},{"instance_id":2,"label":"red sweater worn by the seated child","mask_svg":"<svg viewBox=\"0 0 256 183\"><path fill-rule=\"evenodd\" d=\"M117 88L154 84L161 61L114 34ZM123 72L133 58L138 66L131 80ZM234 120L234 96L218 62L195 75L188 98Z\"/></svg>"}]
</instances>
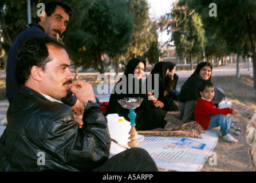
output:
<instances>
[{"instance_id":1,"label":"red sweater worn by the seated child","mask_svg":"<svg viewBox=\"0 0 256 183\"><path fill-rule=\"evenodd\" d=\"M207 130L212 115L227 115L231 113L233 113L233 109L231 108L215 108L214 102L212 100L208 102L206 100L203 100L202 98L198 98L198 102L195 106L194 118L195 121L198 122L198 124L203 126L204 130Z\"/></svg>"}]
</instances>

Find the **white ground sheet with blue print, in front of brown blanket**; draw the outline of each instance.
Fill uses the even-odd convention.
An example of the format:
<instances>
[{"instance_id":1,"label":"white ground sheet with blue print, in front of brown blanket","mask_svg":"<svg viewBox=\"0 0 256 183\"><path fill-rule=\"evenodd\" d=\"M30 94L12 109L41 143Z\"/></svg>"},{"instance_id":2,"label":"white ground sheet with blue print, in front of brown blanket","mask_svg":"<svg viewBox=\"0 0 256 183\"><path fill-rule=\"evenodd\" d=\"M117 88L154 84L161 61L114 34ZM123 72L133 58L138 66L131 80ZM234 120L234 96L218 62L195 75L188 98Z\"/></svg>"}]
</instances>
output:
<instances>
[{"instance_id":1,"label":"white ground sheet with blue print, in front of brown blanket","mask_svg":"<svg viewBox=\"0 0 256 183\"><path fill-rule=\"evenodd\" d=\"M163 171L198 172L214 157L218 141L216 130L206 130L202 138L148 136L139 148L147 150L157 168ZM214 160L210 160L214 164Z\"/></svg>"}]
</instances>

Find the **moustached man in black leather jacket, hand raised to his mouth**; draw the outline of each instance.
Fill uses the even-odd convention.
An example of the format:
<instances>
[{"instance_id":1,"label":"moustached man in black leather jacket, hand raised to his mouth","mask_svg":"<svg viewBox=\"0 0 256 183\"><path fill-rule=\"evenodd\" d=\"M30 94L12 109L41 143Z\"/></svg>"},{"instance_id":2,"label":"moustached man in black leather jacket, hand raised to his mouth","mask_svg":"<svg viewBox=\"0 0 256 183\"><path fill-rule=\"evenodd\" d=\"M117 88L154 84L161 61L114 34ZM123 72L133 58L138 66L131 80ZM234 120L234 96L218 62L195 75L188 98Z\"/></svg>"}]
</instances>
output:
<instances>
[{"instance_id":1,"label":"moustached man in black leather jacket, hand raised to his mouth","mask_svg":"<svg viewBox=\"0 0 256 183\"><path fill-rule=\"evenodd\" d=\"M63 45L50 37L31 37L16 59L25 82L7 110L0 138L0 171L157 171L141 148L108 159L107 120L95 103L92 86L74 81ZM60 98L68 90L84 104L82 128Z\"/></svg>"}]
</instances>

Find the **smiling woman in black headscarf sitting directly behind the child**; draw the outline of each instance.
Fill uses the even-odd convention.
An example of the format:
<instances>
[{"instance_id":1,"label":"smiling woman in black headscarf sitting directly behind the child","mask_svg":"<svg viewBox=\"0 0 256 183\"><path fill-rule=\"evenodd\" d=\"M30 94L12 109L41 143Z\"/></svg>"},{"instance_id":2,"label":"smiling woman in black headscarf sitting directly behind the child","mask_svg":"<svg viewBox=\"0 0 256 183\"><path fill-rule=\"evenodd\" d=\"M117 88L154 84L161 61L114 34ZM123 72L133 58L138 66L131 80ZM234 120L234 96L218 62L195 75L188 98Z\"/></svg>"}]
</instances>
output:
<instances>
[{"instance_id":1,"label":"smiling woman in black headscarf sitting directly behind the child","mask_svg":"<svg viewBox=\"0 0 256 183\"><path fill-rule=\"evenodd\" d=\"M209 62L198 63L192 75L180 89L179 111L183 123L194 121L196 101L200 98L200 86L204 81L211 81L212 65Z\"/></svg>"}]
</instances>

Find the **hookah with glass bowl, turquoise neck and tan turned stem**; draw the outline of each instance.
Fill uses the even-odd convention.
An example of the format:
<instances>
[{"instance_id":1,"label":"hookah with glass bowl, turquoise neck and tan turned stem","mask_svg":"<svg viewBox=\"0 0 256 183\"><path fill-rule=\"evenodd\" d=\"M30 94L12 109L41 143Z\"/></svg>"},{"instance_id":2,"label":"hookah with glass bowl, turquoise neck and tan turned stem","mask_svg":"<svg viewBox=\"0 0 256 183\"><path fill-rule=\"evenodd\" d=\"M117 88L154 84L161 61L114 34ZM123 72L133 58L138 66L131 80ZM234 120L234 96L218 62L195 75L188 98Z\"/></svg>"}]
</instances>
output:
<instances>
[{"instance_id":1,"label":"hookah with glass bowl, turquoise neck and tan turned stem","mask_svg":"<svg viewBox=\"0 0 256 183\"><path fill-rule=\"evenodd\" d=\"M131 130L129 132L129 134L131 135L128 139L130 140L128 142L128 146L130 148L136 148L137 146L139 146L139 142L137 142L137 137L136 135L137 130L135 128L135 118L136 118L136 113L135 113L135 109L137 107L140 106L141 102L143 101L143 98L124 98L123 100L118 100L119 104L125 108L125 109L129 109L129 113L128 113L128 117L131 121Z\"/></svg>"}]
</instances>

